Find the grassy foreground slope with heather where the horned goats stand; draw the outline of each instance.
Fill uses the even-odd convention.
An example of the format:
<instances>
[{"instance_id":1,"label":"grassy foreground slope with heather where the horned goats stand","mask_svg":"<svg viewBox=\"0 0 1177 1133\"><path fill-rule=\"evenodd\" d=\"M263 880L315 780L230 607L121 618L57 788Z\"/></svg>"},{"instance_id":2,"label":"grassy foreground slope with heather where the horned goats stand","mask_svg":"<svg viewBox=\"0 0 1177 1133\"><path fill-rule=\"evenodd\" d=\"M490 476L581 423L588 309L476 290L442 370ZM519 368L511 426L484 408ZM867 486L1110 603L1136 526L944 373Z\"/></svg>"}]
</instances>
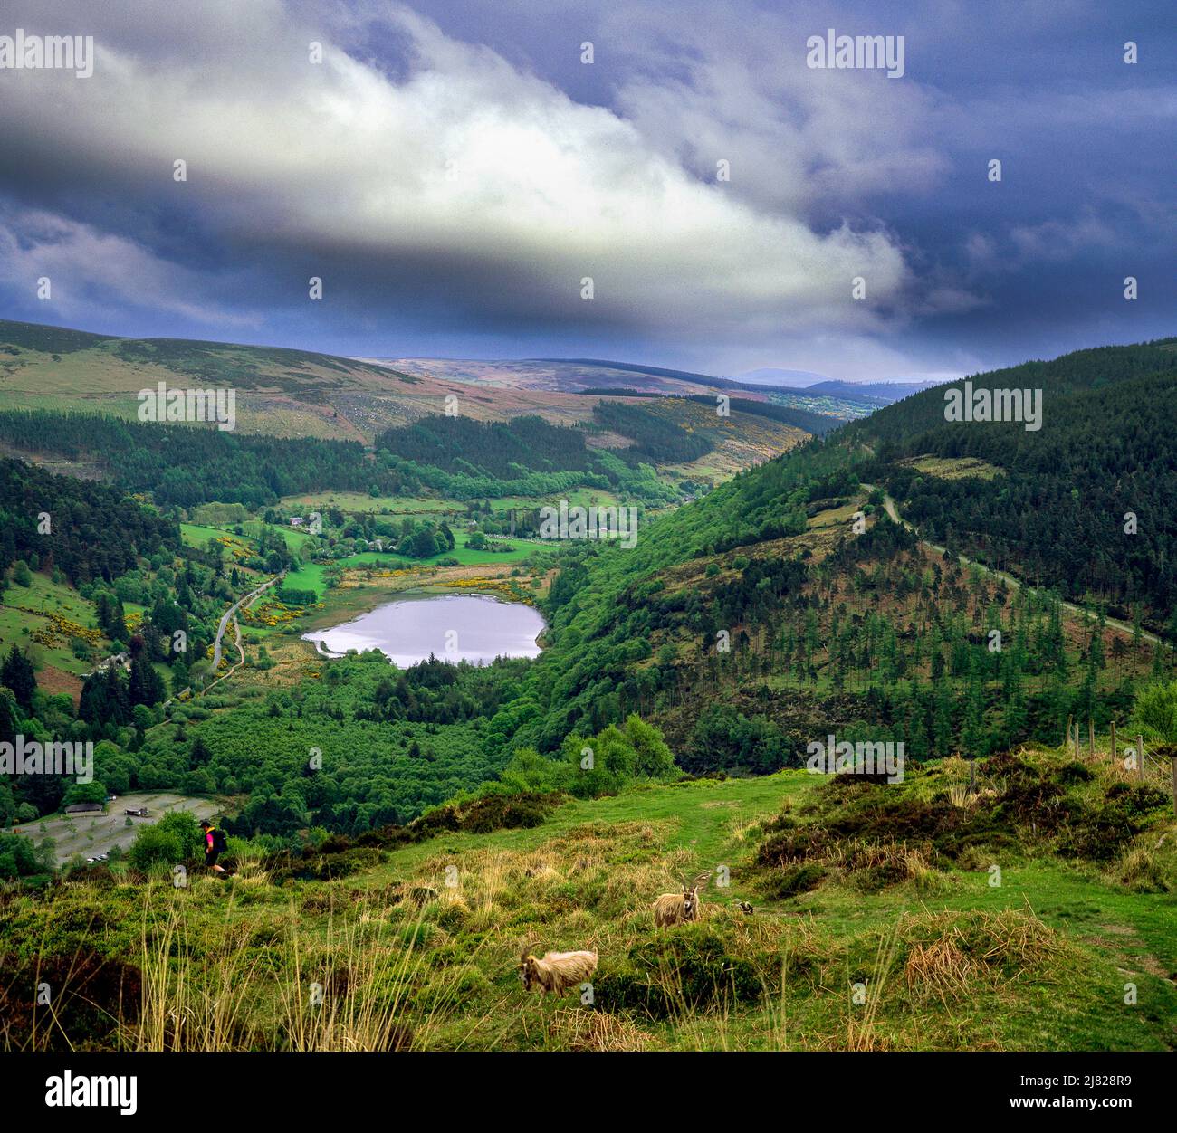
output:
<instances>
[{"instance_id":1,"label":"grassy foreground slope with heather where the horned goats stand","mask_svg":"<svg viewBox=\"0 0 1177 1133\"><path fill-rule=\"evenodd\" d=\"M231 844L227 882L0 891L2 1042L1171 1049L1159 775L1022 749L966 785L943 760L891 786L790 771L498 795L301 859ZM656 931L650 901L703 869L703 920ZM525 995L524 947L598 949L592 1002ZM25 994L39 981L52 1009Z\"/></svg>"}]
</instances>

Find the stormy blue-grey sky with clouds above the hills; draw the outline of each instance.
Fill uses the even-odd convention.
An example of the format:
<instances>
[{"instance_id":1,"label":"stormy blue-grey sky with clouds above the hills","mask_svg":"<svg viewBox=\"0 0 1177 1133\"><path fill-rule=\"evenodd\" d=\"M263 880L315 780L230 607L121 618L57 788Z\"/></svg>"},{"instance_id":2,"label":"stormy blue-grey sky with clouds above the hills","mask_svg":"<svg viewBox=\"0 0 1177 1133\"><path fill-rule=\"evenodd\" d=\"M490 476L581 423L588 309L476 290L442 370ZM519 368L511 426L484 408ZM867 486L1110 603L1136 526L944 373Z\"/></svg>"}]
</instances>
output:
<instances>
[{"instance_id":1,"label":"stormy blue-grey sky with clouds above the hills","mask_svg":"<svg viewBox=\"0 0 1177 1133\"><path fill-rule=\"evenodd\" d=\"M850 379L1171 335L1172 11L6 0L95 58L0 69L0 316ZM827 28L903 76L807 66Z\"/></svg>"}]
</instances>

